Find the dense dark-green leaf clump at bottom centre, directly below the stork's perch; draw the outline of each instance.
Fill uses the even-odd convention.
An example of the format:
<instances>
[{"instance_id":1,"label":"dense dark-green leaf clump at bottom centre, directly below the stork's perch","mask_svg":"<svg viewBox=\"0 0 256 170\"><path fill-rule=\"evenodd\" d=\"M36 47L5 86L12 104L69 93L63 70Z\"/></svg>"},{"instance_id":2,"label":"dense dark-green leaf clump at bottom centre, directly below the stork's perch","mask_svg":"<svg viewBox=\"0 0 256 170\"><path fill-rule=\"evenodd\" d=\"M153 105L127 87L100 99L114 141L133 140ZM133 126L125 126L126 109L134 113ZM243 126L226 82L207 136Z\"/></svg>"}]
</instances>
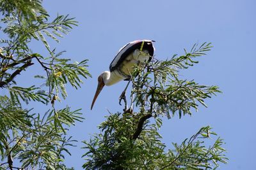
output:
<instances>
[{"instance_id":1,"label":"dense dark-green leaf clump at bottom centre, directly below the stork's perch","mask_svg":"<svg viewBox=\"0 0 256 170\"><path fill-rule=\"evenodd\" d=\"M138 118L126 113L111 114L99 129L103 134L96 134L89 142L84 141L84 148L88 150L83 156L87 162L85 169L147 169L157 167L157 155L163 152L165 145L161 143L155 124L145 124L141 137L133 139ZM138 116L138 115L136 115ZM136 117L135 116L135 117ZM159 155L160 156L160 155ZM147 168L144 163L148 162ZM149 165L150 164L150 165ZM149 168L150 169L150 168Z\"/></svg>"}]
</instances>

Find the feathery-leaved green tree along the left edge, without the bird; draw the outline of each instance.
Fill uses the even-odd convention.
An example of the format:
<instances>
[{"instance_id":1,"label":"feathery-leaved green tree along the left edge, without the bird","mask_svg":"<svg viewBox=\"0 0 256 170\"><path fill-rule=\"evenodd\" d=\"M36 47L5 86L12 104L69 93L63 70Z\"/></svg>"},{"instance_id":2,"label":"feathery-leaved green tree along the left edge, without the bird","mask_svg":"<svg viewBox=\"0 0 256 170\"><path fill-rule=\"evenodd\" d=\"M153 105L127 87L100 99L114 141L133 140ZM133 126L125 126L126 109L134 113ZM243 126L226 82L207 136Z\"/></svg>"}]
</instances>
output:
<instances>
[{"instance_id":1,"label":"feathery-leaved green tree along the left edge, without the bird","mask_svg":"<svg viewBox=\"0 0 256 170\"><path fill-rule=\"evenodd\" d=\"M73 63L61 58L63 52L50 48L45 38L58 42L57 37L63 37L77 22L63 15L49 22L41 3L0 1L1 32L6 37L0 40L0 88L8 93L0 96L0 169L68 169L63 153L70 154L67 146L74 146L76 141L68 136L68 127L83 120L79 109L57 109L54 103L67 97L65 85L77 89L83 83L81 78L90 76L87 60ZM32 52L30 43L38 40L43 42L47 56ZM35 75L42 85L21 87L16 78L32 66L44 70L43 75ZM31 102L42 103L45 111L26 109Z\"/></svg>"}]
</instances>

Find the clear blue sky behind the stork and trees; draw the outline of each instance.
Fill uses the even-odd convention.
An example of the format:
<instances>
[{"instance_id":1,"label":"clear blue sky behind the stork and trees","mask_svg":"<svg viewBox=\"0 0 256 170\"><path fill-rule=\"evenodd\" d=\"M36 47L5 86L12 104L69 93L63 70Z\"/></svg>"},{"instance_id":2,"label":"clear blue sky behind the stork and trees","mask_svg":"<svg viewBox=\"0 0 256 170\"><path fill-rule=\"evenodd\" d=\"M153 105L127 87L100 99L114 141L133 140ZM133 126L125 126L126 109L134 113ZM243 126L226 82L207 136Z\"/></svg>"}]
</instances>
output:
<instances>
[{"instance_id":1,"label":"clear blue sky behind the stork and trees","mask_svg":"<svg viewBox=\"0 0 256 170\"><path fill-rule=\"evenodd\" d=\"M198 131L211 125L213 131L225 139L227 165L220 169L254 169L256 152L255 113L255 47L256 1L44 1L52 17L57 13L70 14L79 21L79 27L52 43L57 50L67 50L72 60L89 59L93 78L84 81L81 89L68 86L67 101L72 108L83 108L83 123L72 127L69 134L77 139L77 148L70 148L68 166L81 169L84 160L81 149L84 139L99 132L97 125L104 121L108 111L122 111L118 97L125 87L120 82L105 87L92 111L90 104L97 86L97 76L108 70L120 47L135 39L154 39L155 55L166 59L174 53L182 55L183 48L194 43L211 42L214 48L200 63L182 76L205 85L218 85L223 91L211 100L208 108L200 107L191 117L164 119L161 134L168 146L181 143ZM34 52L45 50L34 45ZM63 56L64 57L64 56Z\"/></svg>"}]
</instances>

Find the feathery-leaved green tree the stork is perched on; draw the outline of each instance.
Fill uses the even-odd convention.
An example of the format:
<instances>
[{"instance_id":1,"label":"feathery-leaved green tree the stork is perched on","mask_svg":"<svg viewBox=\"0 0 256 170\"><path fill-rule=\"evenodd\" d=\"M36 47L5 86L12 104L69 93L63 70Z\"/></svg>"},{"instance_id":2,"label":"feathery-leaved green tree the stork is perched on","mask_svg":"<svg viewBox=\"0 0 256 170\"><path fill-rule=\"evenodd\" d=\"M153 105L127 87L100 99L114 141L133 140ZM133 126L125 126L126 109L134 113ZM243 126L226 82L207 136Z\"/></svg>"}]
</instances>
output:
<instances>
[{"instance_id":1,"label":"feathery-leaved green tree the stork is perched on","mask_svg":"<svg viewBox=\"0 0 256 170\"><path fill-rule=\"evenodd\" d=\"M173 143L167 150L161 142L158 129L162 118L178 113L182 118L206 107L204 100L215 95L216 86L199 85L193 80L181 80L179 71L198 63L196 57L211 50L211 43L194 45L185 55L173 55L170 60L153 59L144 66L135 67L132 77L131 102L138 108L110 113L100 124L102 133L84 141L88 150L85 169L216 169L226 163L223 139L217 138L211 146L204 141L216 136L211 127L202 127L180 145Z\"/></svg>"}]
</instances>

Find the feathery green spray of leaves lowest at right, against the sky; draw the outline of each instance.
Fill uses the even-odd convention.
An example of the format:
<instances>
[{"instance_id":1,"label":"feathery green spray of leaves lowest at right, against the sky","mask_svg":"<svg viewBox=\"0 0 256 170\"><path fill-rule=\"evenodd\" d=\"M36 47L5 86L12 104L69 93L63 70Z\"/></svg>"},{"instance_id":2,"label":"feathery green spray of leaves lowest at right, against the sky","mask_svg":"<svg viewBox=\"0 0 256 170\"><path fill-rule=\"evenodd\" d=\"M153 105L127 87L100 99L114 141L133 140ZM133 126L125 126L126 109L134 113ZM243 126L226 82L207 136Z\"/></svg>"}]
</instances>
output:
<instances>
[{"instance_id":1,"label":"feathery green spray of leaves lowest at right, against the sky","mask_svg":"<svg viewBox=\"0 0 256 170\"><path fill-rule=\"evenodd\" d=\"M166 168L179 168L179 169L216 169L219 167L219 162L227 163L225 157L225 149L222 148L223 139L220 137L209 146L208 148L204 144L203 139L209 139L210 135L216 136L215 132L211 132L211 127L202 127L200 131L191 136L191 138L185 139L181 145L173 143L174 150L169 150L168 155L175 157L173 160L166 162L166 165L161 169Z\"/></svg>"}]
</instances>

